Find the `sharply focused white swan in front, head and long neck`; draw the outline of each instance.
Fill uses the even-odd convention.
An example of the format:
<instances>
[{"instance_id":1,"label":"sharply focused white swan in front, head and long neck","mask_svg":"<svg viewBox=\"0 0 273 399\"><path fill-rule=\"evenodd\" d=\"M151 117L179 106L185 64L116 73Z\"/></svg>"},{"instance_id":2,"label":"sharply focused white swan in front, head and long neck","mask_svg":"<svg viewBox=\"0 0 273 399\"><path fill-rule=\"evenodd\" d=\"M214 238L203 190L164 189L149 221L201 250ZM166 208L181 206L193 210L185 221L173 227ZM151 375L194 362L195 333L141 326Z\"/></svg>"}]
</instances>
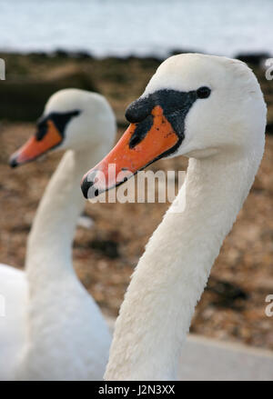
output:
<instances>
[{"instance_id":1,"label":"sharply focused white swan in front, head and long neck","mask_svg":"<svg viewBox=\"0 0 273 399\"><path fill-rule=\"evenodd\" d=\"M127 289L106 380L177 378L195 306L257 173L266 113L258 81L244 63L197 54L170 57L127 108L131 125L116 147L85 175L83 193L93 196L116 185L107 181L111 163L117 176L159 158L189 157L186 181ZM106 184L96 171L105 173Z\"/></svg>"}]
</instances>

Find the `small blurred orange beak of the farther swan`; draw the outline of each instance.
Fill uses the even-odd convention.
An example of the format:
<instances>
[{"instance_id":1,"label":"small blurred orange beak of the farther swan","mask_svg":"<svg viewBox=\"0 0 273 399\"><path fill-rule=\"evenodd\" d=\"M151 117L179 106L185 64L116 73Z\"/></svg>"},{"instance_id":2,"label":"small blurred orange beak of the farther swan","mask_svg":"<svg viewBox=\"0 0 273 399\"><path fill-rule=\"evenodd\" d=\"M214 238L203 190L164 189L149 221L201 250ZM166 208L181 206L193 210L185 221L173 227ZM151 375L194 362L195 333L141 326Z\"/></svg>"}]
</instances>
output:
<instances>
[{"instance_id":1,"label":"small blurred orange beak of the farther swan","mask_svg":"<svg viewBox=\"0 0 273 399\"><path fill-rule=\"evenodd\" d=\"M27 140L25 145L22 145L10 157L9 163L12 167L33 161L62 142L63 137L57 130L56 125L50 119L46 121L46 124L46 133L42 139L38 139L36 135L33 135Z\"/></svg>"}]
</instances>

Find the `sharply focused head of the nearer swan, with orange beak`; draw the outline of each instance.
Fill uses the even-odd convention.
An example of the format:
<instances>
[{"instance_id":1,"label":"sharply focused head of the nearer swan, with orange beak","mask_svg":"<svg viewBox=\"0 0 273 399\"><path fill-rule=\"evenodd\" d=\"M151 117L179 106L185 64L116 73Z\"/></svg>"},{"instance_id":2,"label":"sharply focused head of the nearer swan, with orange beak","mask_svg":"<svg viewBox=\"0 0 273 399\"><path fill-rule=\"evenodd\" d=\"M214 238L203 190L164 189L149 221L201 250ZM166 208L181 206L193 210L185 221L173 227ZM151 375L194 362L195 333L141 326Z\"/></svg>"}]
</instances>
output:
<instances>
[{"instance_id":1,"label":"sharply focused head of the nearer swan, with orange beak","mask_svg":"<svg viewBox=\"0 0 273 399\"><path fill-rule=\"evenodd\" d=\"M83 194L91 197L119 185L160 158L263 151L266 113L257 78L246 64L211 55L172 56L126 109L131 125L84 176ZM114 179L107 175L109 164L116 165Z\"/></svg>"}]
</instances>

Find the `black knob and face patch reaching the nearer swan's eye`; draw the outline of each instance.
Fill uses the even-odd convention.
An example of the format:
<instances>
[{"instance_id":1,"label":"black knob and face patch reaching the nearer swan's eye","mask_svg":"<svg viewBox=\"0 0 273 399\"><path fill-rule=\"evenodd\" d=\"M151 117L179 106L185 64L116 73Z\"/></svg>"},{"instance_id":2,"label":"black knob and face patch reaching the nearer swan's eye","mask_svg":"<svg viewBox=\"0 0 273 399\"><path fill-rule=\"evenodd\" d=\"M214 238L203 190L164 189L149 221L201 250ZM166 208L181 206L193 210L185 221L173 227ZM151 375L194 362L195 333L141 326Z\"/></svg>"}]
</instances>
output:
<instances>
[{"instance_id":1,"label":"black knob and face patch reaching the nearer swan's eye","mask_svg":"<svg viewBox=\"0 0 273 399\"><path fill-rule=\"evenodd\" d=\"M134 101L126 109L126 119L128 122L136 124L136 130L131 136L129 147L134 148L146 137L153 125L154 117L151 115L151 112L155 106L159 105L163 109L167 121L172 125L178 136L177 145L163 155L160 155L160 157L175 152L184 138L187 112L196 100L197 91L178 92L176 90L164 89Z\"/></svg>"}]
</instances>

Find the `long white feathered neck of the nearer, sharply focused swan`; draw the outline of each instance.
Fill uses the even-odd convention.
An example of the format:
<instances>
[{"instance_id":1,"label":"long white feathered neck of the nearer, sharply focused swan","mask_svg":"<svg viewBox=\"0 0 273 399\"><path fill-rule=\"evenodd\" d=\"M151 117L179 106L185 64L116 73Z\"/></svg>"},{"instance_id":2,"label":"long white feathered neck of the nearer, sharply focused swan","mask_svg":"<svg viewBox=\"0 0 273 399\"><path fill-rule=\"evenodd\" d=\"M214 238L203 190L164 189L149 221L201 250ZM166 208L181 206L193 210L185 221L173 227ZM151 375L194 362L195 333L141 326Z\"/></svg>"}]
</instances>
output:
<instances>
[{"instance_id":1,"label":"long white feathered neck of the nearer, sharply focused swan","mask_svg":"<svg viewBox=\"0 0 273 399\"><path fill-rule=\"evenodd\" d=\"M259 149L248 157L189 160L185 184L149 240L127 289L106 379L177 378L195 306L248 195L261 154Z\"/></svg>"}]
</instances>

